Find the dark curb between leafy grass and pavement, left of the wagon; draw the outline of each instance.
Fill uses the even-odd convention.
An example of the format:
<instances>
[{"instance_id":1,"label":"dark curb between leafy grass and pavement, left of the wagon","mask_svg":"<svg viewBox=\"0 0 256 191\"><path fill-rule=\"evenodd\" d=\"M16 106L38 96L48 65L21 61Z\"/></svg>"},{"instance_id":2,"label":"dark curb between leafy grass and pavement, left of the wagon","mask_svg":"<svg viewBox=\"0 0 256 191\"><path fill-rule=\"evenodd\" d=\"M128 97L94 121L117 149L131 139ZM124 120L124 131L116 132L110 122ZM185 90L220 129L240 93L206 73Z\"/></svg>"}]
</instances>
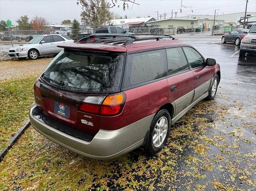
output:
<instances>
[{"instance_id":1,"label":"dark curb between leafy grass and pavement, left of the wagon","mask_svg":"<svg viewBox=\"0 0 256 191\"><path fill-rule=\"evenodd\" d=\"M12 146L17 142L17 140L20 138L20 136L24 133L24 131L30 126L30 121L28 120L19 130L18 133L16 133L14 136L10 137L10 142L8 146L6 146L2 151L0 152L0 162L4 159L4 156L7 154L8 150L12 148Z\"/></svg>"}]
</instances>

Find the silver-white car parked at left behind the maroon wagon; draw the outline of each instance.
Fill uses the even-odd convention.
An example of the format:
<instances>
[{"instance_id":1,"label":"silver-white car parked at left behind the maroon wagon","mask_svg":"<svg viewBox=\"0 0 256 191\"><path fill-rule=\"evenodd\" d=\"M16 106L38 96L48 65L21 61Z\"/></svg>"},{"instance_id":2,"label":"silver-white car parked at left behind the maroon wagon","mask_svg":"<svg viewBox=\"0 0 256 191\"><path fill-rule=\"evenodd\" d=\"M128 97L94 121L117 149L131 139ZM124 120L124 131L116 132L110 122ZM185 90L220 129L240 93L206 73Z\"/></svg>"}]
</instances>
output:
<instances>
[{"instance_id":1,"label":"silver-white car parked at left behind the maroon wagon","mask_svg":"<svg viewBox=\"0 0 256 191\"><path fill-rule=\"evenodd\" d=\"M73 44L76 41L72 40L67 35L48 34L34 37L27 44L11 47L8 55L11 58L26 58L37 59L42 55L58 54L62 48L57 46Z\"/></svg>"}]
</instances>

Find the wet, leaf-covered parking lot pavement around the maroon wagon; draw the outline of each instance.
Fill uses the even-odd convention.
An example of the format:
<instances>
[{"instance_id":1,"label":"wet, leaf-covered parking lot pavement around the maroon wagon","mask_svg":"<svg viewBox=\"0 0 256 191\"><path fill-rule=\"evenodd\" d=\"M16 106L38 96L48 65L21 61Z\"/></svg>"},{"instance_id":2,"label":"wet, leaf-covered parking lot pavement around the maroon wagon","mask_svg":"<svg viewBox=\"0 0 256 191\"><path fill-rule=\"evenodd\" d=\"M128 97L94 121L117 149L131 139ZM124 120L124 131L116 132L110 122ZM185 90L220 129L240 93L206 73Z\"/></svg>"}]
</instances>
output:
<instances>
[{"instance_id":1,"label":"wet, leaf-covered parking lot pavement around the maroon wagon","mask_svg":"<svg viewBox=\"0 0 256 191\"><path fill-rule=\"evenodd\" d=\"M197 37L196 37L197 38ZM256 190L255 57L217 39L182 39L215 58L221 81L213 101L201 101L174 126L150 157L138 148L98 161L78 156L32 127L0 163L0 190Z\"/></svg>"}]
</instances>

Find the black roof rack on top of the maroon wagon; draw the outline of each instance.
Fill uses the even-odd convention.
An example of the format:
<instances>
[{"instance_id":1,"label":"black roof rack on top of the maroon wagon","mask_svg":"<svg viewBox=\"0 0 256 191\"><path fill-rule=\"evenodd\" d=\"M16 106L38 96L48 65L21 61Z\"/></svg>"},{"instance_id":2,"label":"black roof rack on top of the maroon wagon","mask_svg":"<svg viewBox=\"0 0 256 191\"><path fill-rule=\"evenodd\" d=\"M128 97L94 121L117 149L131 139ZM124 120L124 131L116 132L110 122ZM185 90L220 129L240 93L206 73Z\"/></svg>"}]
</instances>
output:
<instances>
[{"instance_id":1,"label":"black roof rack on top of the maroon wagon","mask_svg":"<svg viewBox=\"0 0 256 191\"><path fill-rule=\"evenodd\" d=\"M147 35L146 37L138 37L136 35ZM97 39L97 40L92 40L93 38L104 38L104 37L112 37L112 38L104 38L104 39ZM143 41L143 40L150 40L150 39L156 39L158 41L159 39L162 38L171 38L174 39L171 35L167 34L132 34L132 35L119 35L119 34L93 34L88 37L84 37L78 41L87 41L90 40L92 43L113 43L113 44L121 44L123 45L130 45L133 44L134 41Z\"/></svg>"}]
</instances>

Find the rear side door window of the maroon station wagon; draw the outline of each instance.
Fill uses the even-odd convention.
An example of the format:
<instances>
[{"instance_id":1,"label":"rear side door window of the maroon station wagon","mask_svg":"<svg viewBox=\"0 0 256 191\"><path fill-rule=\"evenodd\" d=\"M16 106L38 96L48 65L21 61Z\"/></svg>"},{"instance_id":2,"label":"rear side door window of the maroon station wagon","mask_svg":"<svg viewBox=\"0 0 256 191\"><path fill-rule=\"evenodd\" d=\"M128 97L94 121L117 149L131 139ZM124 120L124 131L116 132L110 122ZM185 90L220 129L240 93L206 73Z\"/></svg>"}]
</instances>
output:
<instances>
[{"instance_id":1,"label":"rear side door window of the maroon station wagon","mask_svg":"<svg viewBox=\"0 0 256 191\"><path fill-rule=\"evenodd\" d=\"M166 55L168 75L188 69L188 63L181 47L166 49Z\"/></svg>"}]
</instances>

